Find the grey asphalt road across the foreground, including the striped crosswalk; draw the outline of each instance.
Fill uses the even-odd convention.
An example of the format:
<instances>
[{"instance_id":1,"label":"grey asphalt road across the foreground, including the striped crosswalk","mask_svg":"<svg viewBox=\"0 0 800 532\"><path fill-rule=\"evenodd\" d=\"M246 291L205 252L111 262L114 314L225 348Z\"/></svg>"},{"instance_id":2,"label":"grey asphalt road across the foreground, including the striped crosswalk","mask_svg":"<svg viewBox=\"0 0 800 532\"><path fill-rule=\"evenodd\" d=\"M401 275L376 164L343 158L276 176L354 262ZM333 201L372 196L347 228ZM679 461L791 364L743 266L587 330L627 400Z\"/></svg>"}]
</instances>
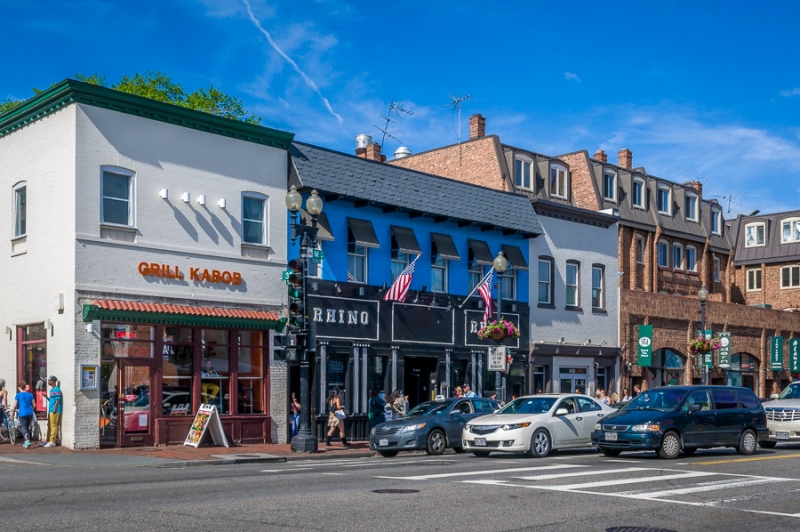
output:
<instances>
[{"instance_id":1,"label":"grey asphalt road across the foreground, including the striped crosswalk","mask_svg":"<svg viewBox=\"0 0 800 532\"><path fill-rule=\"evenodd\" d=\"M158 468L0 463L3 530L788 531L800 447Z\"/></svg>"}]
</instances>

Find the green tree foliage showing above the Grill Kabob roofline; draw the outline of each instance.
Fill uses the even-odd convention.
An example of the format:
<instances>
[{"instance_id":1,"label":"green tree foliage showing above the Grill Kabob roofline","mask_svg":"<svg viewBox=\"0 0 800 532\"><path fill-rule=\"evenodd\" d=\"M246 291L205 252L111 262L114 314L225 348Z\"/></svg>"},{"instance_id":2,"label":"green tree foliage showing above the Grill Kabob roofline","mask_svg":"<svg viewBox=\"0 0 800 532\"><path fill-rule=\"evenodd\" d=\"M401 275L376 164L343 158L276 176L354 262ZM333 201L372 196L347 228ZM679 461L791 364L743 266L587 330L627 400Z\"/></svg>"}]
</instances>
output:
<instances>
[{"instance_id":1,"label":"green tree foliage showing above the Grill Kabob roofline","mask_svg":"<svg viewBox=\"0 0 800 532\"><path fill-rule=\"evenodd\" d=\"M105 76L97 73L90 75L76 74L75 79L84 83L143 96L151 100L247 122L248 124L261 123L261 117L257 117L253 113L248 115L241 100L223 93L213 85L209 85L208 89L199 88L193 92L186 92L179 83L173 82L172 78L167 74L155 70L148 70L144 74L136 73L130 77L122 76L122 79L117 83L110 85ZM39 94L42 91L34 88L33 92L34 94ZM22 100L5 99L0 102L0 113L9 111L21 103Z\"/></svg>"}]
</instances>

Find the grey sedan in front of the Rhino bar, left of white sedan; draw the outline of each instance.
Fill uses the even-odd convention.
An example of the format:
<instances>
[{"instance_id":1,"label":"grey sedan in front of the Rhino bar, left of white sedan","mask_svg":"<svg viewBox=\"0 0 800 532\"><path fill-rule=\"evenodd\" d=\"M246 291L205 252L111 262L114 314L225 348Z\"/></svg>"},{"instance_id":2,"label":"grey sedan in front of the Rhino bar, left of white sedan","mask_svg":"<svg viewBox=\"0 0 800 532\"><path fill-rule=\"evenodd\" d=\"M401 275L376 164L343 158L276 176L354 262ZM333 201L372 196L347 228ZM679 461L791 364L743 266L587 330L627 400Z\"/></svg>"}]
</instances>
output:
<instances>
[{"instance_id":1,"label":"grey sedan in front of the Rhino bar, left of white sedan","mask_svg":"<svg viewBox=\"0 0 800 532\"><path fill-rule=\"evenodd\" d=\"M496 401L479 397L426 401L405 416L373 428L369 448L387 457L416 449L424 449L428 454L442 454L448 447L464 452L461 447L464 425L498 408Z\"/></svg>"}]
</instances>

